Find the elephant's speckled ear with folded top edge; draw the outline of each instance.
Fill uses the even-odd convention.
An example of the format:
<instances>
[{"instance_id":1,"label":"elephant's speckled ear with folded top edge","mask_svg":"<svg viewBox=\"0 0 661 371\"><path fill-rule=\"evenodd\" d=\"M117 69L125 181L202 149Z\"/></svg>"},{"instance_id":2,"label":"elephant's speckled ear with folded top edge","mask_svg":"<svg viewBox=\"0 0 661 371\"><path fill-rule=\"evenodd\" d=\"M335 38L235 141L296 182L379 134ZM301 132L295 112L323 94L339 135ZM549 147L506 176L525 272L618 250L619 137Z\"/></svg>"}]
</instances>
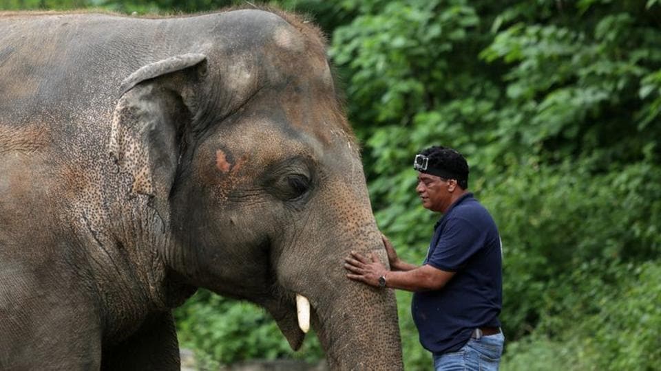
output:
<instances>
[{"instance_id":1,"label":"elephant's speckled ear with folded top edge","mask_svg":"<svg viewBox=\"0 0 661 371\"><path fill-rule=\"evenodd\" d=\"M206 60L184 54L140 67L123 81L112 114L110 154L119 171L132 177L132 194L151 196L161 216L180 144L198 115L196 85L206 74Z\"/></svg>"}]
</instances>

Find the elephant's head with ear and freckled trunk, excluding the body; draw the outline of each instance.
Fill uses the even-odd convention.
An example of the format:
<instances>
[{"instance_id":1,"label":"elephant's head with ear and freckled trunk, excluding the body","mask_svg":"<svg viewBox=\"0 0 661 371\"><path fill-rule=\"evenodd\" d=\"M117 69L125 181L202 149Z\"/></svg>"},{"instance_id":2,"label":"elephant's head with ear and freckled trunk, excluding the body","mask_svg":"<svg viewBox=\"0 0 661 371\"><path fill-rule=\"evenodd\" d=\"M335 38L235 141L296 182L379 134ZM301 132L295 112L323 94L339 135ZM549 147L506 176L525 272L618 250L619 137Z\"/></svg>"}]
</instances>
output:
<instances>
[{"instance_id":1,"label":"elephant's head with ear and freckled trunk, excluding the body","mask_svg":"<svg viewBox=\"0 0 661 371\"><path fill-rule=\"evenodd\" d=\"M266 308L294 349L309 303L331 368L401 368L392 291L342 265L387 259L322 37L286 14L216 16L213 43L138 68L113 114L110 150L162 222L160 256Z\"/></svg>"}]
</instances>

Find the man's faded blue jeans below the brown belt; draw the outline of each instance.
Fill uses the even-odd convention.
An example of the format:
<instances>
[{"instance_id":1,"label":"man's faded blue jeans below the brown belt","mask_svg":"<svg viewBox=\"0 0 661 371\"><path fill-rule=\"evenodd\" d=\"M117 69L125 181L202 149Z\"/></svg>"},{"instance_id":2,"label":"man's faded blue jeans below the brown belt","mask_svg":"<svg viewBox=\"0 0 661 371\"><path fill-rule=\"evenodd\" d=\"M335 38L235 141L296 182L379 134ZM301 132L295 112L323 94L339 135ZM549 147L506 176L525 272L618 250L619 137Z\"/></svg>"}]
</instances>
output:
<instances>
[{"instance_id":1,"label":"man's faded blue jeans below the brown belt","mask_svg":"<svg viewBox=\"0 0 661 371\"><path fill-rule=\"evenodd\" d=\"M498 370L503 354L503 333L470 339L457 352L434 354L435 371Z\"/></svg>"}]
</instances>

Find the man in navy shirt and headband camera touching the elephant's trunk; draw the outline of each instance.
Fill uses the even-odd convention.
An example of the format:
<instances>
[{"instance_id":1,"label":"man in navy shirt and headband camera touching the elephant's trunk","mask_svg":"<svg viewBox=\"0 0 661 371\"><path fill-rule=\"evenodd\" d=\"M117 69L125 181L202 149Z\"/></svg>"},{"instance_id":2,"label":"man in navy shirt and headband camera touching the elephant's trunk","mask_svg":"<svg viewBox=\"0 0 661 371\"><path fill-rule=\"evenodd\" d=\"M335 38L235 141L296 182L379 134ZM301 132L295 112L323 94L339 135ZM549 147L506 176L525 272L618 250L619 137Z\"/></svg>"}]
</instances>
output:
<instances>
[{"instance_id":1,"label":"man in navy shirt and headband camera touching the elephant's trunk","mask_svg":"<svg viewBox=\"0 0 661 371\"><path fill-rule=\"evenodd\" d=\"M468 164L456 150L433 146L415 157L423 207L441 212L420 267L403 262L384 236L390 271L352 252L348 278L415 292L412 315L435 370L497 370L505 337L501 312L501 241L487 210L468 192Z\"/></svg>"}]
</instances>

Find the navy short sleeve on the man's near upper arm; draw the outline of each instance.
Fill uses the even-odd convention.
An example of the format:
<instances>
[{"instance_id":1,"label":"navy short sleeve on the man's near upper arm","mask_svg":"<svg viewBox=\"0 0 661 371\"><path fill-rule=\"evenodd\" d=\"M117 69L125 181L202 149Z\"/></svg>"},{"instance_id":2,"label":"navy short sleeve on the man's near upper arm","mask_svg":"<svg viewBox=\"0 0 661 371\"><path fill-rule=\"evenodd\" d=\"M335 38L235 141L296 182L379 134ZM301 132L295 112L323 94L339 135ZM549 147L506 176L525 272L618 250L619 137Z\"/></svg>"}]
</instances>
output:
<instances>
[{"instance_id":1,"label":"navy short sleeve on the man's near upper arm","mask_svg":"<svg viewBox=\"0 0 661 371\"><path fill-rule=\"evenodd\" d=\"M445 224L427 264L443 271L460 271L483 246L478 228L464 218L452 218Z\"/></svg>"}]
</instances>

